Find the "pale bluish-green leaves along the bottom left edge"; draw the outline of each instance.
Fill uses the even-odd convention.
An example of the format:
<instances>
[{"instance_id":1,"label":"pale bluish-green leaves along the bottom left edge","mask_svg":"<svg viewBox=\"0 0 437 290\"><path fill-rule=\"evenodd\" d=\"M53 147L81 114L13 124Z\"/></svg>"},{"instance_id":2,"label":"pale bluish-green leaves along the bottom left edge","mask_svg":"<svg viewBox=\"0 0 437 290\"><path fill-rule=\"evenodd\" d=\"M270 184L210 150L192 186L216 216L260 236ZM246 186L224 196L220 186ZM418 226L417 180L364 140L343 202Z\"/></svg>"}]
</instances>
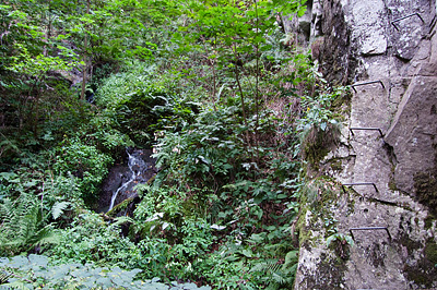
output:
<instances>
[{"instance_id":1,"label":"pale bluish-green leaves along the bottom left edge","mask_svg":"<svg viewBox=\"0 0 437 290\"><path fill-rule=\"evenodd\" d=\"M211 289L198 288L194 283L172 282L166 286L158 278L134 280L140 269L123 270L119 267L96 267L93 264L63 264L52 266L43 255L14 256L1 258L0 269L4 280L0 289Z\"/></svg>"}]
</instances>

